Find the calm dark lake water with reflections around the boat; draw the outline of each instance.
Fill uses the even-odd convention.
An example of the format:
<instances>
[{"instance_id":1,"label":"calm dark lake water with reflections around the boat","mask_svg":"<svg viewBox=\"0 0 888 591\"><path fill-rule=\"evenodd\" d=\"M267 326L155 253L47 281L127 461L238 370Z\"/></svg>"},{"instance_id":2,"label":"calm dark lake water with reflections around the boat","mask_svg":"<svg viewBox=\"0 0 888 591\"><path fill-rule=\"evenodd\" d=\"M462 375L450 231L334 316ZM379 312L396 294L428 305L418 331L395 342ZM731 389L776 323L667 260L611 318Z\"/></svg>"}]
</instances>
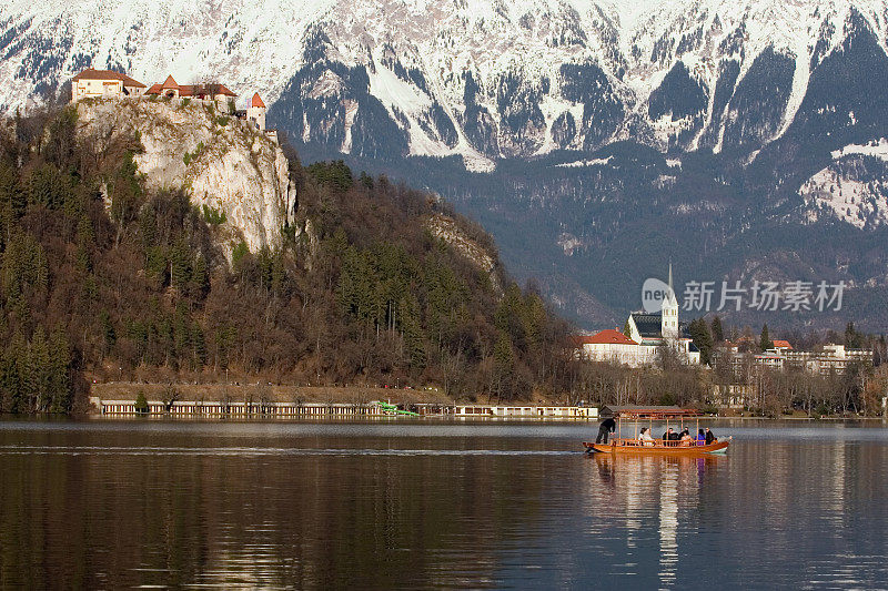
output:
<instances>
[{"instance_id":1,"label":"calm dark lake water with reflections around the boat","mask_svg":"<svg viewBox=\"0 0 888 591\"><path fill-rule=\"evenodd\" d=\"M888 429L0 421L0 587L888 588ZM655 429L655 432L659 430Z\"/></svg>"}]
</instances>

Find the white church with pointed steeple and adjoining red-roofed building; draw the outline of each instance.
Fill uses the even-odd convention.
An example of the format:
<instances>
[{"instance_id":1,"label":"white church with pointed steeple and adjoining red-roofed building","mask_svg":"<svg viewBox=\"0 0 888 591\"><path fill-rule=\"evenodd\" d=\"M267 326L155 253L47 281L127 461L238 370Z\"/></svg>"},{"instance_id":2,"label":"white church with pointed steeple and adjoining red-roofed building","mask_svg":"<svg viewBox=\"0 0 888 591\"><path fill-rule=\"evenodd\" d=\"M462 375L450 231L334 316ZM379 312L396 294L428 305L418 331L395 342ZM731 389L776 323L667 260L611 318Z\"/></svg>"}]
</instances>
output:
<instances>
[{"instance_id":1,"label":"white church with pointed steeple and adjoining red-roofed building","mask_svg":"<svg viewBox=\"0 0 888 591\"><path fill-rule=\"evenodd\" d=\"M686 325L678 320L678 298L673 288L672 265L668 288L659 312L630 313L624 332L612 328L577 337L582 358L629 367L656 365L662 346L673 348L678 359L687 365L700 363L700 353L688 335Z\"/></svg>"}]
</instances>

